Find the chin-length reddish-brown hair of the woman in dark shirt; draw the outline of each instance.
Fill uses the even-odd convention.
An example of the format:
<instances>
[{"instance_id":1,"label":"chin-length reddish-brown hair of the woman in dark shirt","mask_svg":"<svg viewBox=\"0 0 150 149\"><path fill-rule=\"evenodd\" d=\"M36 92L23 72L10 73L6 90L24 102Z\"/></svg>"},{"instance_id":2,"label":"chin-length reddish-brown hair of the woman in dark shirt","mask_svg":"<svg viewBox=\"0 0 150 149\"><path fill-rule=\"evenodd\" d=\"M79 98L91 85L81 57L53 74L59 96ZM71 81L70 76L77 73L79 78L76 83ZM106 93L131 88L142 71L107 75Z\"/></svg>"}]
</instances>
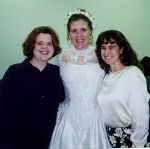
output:
<instances>
[{"instance_id":1,"label":"chin-length reddish-brown hair of the woman in dark shirt","mask_svg":"<svg viewBox=\"0 0 150 149\"><path fill-rule=\"evenodd\" d=\"M50 26L40 26L34 28L29 35L26 37L24 43L22 44L23 47L23 54L31 60L33 58L33 50L35 48L35 42L36 38L40 33L44 34L50 34L52 36L52 43L54 46L54 54L52 57L55 55L59 54L61 52L61 47L59 43L59 37L55 30L50 27Z\"/></svg>"}]
</instances>

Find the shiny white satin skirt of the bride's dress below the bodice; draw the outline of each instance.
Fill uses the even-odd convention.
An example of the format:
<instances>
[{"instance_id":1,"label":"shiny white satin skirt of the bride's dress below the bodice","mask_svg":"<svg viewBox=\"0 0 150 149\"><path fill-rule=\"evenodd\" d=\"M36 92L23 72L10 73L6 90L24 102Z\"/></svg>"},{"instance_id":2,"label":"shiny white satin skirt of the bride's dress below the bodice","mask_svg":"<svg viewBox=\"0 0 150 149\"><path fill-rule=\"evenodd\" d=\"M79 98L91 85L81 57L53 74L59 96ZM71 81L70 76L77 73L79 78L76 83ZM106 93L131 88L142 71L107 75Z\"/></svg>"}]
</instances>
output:
<instances>
[{"instance_id":1,"label":"shiny white satin skirt of the bride's dress below the bodice","mask_svg":"<svg viewBox=\"0 0 150 149\"><path fill-rule=\"evenodd\" d=\"M64 105L63 105L64 106ZM60 112L60 111L59 111ZM86 132L85 138L79 143L72 124L60 112L52 136L49 149L102 149L109 148L110 144L105 133L105 126L100 117L95 118ZM90 122L89 122L90 123Z\"/></svg>"}]
</instances>

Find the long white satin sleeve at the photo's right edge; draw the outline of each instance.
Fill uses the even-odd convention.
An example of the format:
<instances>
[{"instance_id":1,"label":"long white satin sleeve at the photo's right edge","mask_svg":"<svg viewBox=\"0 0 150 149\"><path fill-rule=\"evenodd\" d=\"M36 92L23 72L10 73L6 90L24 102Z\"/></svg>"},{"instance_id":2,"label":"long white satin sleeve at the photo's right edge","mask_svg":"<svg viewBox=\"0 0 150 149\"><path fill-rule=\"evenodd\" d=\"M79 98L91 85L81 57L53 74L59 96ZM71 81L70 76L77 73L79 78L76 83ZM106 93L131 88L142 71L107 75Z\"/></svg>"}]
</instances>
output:
<instances>
[{"instance_id":1,"label":"long white satin sleeve at the photo's right edge","mask_svg":"<svg viewBox=\"0 0 150 149\"><path fill-rule=\"evenodd\" d=\"M131 67L129 75L131 111L131 141L135 147L144 147L147 141L149 129L149 99L147 92L146 79L143 73L135 66Z\"/></svg>"}]
</instances>

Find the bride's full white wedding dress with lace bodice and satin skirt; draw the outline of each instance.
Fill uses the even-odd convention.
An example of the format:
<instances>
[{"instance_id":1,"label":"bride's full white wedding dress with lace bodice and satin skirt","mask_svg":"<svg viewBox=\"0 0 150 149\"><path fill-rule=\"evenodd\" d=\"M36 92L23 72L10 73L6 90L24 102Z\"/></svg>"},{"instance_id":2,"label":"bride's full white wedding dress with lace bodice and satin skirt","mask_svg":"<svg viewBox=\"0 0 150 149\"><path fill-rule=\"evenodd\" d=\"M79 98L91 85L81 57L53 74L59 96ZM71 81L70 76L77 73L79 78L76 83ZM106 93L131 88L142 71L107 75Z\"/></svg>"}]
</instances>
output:
<instances>
[{"instance_id":1,"label":"bride's full white wedding dress with lace bodice and satin skirt","mask_svg":"<svg viewBox=\"0 0 150 149\"><path fill-rule=\"evenodd\" d=\"M66 99L59 107L49 149L100 149L109 143L96 96L103 70L93 47L63 51L57 57Z\"/></svg>"}]
</instances>

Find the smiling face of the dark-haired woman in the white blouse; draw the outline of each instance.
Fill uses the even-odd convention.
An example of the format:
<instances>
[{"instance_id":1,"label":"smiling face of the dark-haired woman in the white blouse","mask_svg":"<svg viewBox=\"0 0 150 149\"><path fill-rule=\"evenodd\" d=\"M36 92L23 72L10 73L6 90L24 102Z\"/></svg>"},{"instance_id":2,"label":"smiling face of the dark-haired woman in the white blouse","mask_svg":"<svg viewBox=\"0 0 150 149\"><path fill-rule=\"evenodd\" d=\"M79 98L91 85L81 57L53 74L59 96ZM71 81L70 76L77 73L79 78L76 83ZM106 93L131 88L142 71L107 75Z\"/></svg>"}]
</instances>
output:
<instances>
[{"instance_id":1,"label":"smiling face of the dark-haired woman in the white blouse","mask_svg":"<svg viewBox=\"0 0 150 149\"><path fill-rule=\"evenodd\" d=\"M118 66L121 64L120 55L122 53L122 48L120 48L116 43L107 43L101 45L101 57L110 65L110 67Z\"/></svg>"}]
</instances>

